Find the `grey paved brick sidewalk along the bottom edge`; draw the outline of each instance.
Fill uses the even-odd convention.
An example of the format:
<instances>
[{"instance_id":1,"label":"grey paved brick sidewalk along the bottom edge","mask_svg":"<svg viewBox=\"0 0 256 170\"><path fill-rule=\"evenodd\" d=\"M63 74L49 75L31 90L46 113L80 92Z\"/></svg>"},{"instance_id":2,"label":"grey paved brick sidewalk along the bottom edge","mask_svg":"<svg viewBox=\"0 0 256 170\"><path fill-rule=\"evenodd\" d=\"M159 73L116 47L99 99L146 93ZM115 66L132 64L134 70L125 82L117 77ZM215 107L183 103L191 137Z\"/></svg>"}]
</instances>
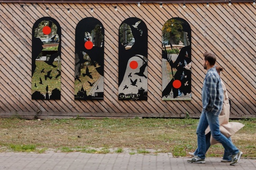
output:
<instances>
[{"instance_id":1,"label":"grey paved brick sidewalk along the bottom edge","mask_svg":"<svg viewBox=\"0 0 256 170\"><path fill-rule=\"evenodd\" d=\"M256 170L256 159L241 158L238 164L206 158L205 164L187 163L188 157L171 153L0 153L0 170Z\"/></svg>"}]
</instances>

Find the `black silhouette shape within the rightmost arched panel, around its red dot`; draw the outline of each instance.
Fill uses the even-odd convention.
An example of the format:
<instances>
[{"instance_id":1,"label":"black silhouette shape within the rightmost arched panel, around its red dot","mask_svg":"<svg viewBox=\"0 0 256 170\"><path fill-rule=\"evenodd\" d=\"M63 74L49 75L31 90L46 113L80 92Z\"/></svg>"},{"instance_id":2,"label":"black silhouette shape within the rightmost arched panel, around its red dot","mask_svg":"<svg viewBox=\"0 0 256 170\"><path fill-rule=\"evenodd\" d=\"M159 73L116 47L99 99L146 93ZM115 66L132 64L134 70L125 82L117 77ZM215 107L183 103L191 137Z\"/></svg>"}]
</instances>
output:
<instances>
[{"instance_id":1,"label":"black silhouette shape within the rightmost arched panel, around its red dot","mask_svg":"<svg viewBox=\"0 0 256 170\"><path fill-rule=\"evenodd\" d=\"M179 93L183 93L184 95L191 93L191 28L182 18L177 19L183 21L183 29L179 29L179 31L186 33L188 44L180 50L178 57L174 62L170 57L168 57L167 51L163 50L163 59L166 59L169 62L172 72L173 68L176 68L177 71L163 90L162 97L167 97L171 91L173 91L174 98L178 97ZM179 88L175 88L174 80L179 80L181 82L181 86Z\"/></svg>"}]
</instances>

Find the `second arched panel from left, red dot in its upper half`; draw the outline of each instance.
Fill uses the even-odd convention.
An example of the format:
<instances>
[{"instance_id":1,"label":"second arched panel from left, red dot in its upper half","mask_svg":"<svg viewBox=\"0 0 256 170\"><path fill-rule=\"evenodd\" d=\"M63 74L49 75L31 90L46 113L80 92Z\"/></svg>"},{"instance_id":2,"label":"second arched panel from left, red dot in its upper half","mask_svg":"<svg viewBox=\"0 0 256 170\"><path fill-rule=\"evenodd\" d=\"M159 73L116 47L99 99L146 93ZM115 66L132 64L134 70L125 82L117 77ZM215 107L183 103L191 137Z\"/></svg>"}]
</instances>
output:
<instances>
[{"instance_id":1,"label":"second arched panel from left, red dot in its upper half","mask_svg":"<svg viewBox=\"0 0 256 170\"><path fill-rule=\"evenodd\" d=\"M75 100L103 100L104 27L93 17L83 18L75 29Z\"/></svg>"}]
</instances>

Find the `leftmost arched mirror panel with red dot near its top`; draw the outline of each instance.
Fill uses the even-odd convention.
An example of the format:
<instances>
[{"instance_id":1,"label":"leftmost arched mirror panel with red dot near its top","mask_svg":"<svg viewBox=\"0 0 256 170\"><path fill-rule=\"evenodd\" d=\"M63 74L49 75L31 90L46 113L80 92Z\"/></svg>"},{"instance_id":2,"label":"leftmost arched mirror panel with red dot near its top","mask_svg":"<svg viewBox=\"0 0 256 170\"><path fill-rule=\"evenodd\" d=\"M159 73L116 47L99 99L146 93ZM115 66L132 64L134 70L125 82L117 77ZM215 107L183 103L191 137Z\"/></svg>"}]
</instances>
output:
<instances>
[{"instance_id":1,"label":"leftmost arched mirror panel with red dot near its top","mask_svg":"<svg viewBox=\"0 0 256 170\"><path fill-rule=\"evenodd\" d=\"M32 28L32 99L61 98L61 27L52 17Z\"/></svg>"}]
</instances>

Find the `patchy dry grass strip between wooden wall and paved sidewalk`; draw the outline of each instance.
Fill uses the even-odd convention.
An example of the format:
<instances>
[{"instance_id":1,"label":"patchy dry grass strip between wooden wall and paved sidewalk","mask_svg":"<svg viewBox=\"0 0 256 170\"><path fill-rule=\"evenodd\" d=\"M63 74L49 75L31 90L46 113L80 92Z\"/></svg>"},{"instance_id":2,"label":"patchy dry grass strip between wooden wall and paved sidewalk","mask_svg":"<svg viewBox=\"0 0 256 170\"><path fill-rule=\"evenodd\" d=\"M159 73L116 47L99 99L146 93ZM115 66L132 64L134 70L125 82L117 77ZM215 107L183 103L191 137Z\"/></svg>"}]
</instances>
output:
<instances>
[{"instance_id":1,"label":"patchy dry grass strip between wooden wall and paved sidewalk","mask_svg":"<svg viewBox=\"0 0 256 170\"><path fill-rule=\"evenodd\" d=\"M189 156L197 147L199 119L46 119L25 120L18 117L0 119L0 152L38 152L55 149L62 152L172 153ZM230 120L245 127L232 136L243 157L256 157L256 119ZM23 146L23 147L21 147ZM29 147L30 146L30 147ZM40 149L43 148L43 149ZM137 150L137 152L136 152ZM221 156L221 144L210 147L207 156Z\"/></svg>"}]
</instances>

